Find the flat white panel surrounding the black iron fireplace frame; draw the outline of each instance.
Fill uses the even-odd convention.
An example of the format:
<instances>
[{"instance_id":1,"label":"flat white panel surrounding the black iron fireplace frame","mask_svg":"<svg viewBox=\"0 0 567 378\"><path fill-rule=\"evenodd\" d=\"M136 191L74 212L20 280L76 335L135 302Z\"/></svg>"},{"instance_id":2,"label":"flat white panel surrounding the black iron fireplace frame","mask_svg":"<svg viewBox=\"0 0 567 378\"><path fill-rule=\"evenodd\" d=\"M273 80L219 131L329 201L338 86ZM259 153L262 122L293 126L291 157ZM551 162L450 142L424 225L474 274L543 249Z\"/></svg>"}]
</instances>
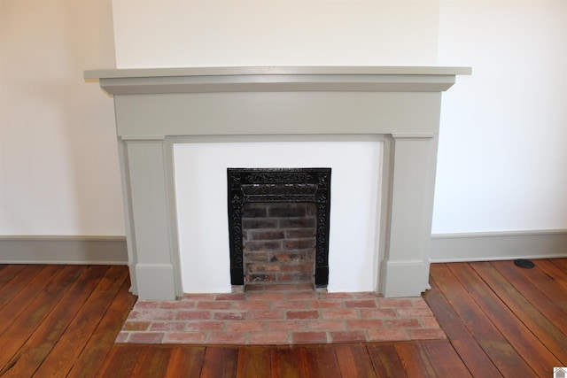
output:
<instances>
[{"instance_id":1,"label":"flat white panel surrounding the black iron fireplace frame","mask_svg":"<svg viewBox=\"0 0 567 378\"><path fill-rule=\"evenodd\" d=\"M377 288L382 142L175 143L175 209L183 291L231 291L227 168L331 169L330 292ZM182 231L183 230L183 231Z\"/></svg>"}]
</instances>

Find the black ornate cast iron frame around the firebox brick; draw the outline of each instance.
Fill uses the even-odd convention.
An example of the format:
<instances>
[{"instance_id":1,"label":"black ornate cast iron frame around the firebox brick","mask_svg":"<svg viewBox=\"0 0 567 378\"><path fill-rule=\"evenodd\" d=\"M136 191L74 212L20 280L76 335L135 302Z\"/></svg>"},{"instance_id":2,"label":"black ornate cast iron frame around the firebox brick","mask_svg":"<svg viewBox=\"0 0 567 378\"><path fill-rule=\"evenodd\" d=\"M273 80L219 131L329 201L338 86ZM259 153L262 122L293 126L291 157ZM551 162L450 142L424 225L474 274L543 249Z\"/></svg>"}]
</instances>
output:
<instances>
[{"instance_id":1,"label":"black ornate cast iron frame around the firebox brick","mask_svg":"<svg viewBox=\"0 0 567 378\"><path fill-rule=\"evenodd\" d=\"M242 207L308 202L317 208L315 287L329 283L330 168L228 168L230 283L244 285Z\"/></svg>"}]
</instances>

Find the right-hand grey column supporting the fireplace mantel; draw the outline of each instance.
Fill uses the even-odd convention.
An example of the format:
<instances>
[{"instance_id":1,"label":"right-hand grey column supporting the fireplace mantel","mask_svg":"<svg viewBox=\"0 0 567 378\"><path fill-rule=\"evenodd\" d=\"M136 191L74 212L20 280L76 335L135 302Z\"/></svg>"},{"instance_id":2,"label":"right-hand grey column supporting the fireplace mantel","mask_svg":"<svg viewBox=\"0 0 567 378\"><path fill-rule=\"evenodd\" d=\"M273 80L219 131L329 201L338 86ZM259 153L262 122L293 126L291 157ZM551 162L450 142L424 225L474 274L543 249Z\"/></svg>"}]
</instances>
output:
<instances>
[{"instance_id":1,"label":"right-hand grey column supporting the fireplace mantel","mask_svg":"<svg viewBox=\"0 0 567 378\"><path fill-rule=\"evenodd\" d=\"M437 137L393 137L392 207L384 263L385 297L419 297L429 289L431 217Z\"/></svg>"}]
</instances>

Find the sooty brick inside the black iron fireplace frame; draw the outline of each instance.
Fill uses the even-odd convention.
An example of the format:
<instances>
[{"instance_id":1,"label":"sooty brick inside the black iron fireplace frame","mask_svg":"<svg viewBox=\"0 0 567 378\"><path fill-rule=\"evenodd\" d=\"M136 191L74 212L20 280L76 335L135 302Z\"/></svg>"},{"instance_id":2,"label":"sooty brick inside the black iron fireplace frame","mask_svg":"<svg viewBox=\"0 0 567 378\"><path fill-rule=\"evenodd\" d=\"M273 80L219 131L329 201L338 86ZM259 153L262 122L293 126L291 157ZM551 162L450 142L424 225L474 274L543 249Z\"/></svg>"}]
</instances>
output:
<instances>
[{"instance_id":1,"label":"sooty brick inside the black iron fireplace frame","mask_svg":"<svg viewBox=\"0 0 567 378\"><path fill-rule=\"evenodd\" d=\"M252 203L242 212L245 288L313 286L316 207L312 203Z\"/></svg>"}]
</instances>

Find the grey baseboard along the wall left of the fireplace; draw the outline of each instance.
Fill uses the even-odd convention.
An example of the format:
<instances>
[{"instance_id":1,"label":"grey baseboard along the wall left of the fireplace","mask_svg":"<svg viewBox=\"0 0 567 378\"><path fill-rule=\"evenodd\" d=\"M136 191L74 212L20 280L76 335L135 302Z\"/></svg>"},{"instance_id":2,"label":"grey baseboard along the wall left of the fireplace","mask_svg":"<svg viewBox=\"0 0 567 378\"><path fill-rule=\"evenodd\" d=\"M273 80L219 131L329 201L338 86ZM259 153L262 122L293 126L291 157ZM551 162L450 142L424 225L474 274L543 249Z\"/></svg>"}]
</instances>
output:
<instances>
[{"instance_id":1,"label":"grey baseboard along the wall left of the fireplace","mask_svg":"<svg viewBox=\"0 0 567 378\"><path fill-rule=\"evenodd\" d=\"M0 236L0 264L128 265L125 236Z\"/></svg>"}]
</instances>

